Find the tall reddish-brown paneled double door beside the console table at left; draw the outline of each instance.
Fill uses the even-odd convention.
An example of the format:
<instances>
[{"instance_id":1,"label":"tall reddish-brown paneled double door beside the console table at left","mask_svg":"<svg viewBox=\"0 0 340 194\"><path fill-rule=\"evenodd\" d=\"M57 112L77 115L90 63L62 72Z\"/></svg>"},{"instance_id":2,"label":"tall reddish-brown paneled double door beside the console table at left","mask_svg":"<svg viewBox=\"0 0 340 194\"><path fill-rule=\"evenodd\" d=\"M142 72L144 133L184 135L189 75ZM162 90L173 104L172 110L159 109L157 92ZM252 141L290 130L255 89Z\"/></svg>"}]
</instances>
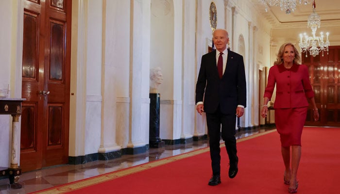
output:
<instances>
[{"instance_id":1,"label":"tall reddish-brown paneled double door beside the console table at left","mask_svg":"<svg viewBox=\"0 0 340 194\"><path fill-rule=\"evenodd\" d=\"M24 0L20 167L68 163L71 0Z\"/></svg>"}]
</instances>

